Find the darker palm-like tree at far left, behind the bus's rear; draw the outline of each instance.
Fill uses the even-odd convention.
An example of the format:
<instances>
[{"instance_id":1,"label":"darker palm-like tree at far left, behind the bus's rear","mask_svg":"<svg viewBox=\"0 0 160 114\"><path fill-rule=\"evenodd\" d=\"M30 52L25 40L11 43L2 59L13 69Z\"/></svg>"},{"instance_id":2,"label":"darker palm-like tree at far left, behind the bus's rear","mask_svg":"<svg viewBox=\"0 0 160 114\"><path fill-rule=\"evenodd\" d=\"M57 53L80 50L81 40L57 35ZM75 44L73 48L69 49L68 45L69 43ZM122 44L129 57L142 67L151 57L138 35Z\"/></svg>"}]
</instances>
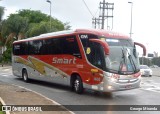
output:
<instances>
[{"instance_id":1,"label":"darker palm-like tree at far left, behind the bus's rear","mask_svg":"<svg viewBox=\"0 0 160 114\"><path fill-rule=\"evenodd\" d=\"M5 45L10 45L14 40L23 39L28 29L28 19L18 14L11 14L2 23L1 35L5 39Z\"/></svg>"}]
</instances>

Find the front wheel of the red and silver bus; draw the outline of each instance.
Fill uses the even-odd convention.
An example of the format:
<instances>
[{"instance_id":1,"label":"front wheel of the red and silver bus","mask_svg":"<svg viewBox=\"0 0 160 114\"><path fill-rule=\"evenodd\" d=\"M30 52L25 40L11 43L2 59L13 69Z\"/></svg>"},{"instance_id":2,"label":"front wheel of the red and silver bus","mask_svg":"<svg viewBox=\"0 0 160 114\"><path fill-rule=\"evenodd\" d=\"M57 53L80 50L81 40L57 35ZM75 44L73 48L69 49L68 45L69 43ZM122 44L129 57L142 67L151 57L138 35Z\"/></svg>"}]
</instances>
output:
<instances>
[{"instance_id":1,"label":"front wheel of the red and silver bus","mask_svg":"<svg viewBox=\"0 0 160 114\"><path fill-rule=\"evenodd\" d=\"M83 83L82 80L79 76L76 77L73 83L74 91L78 94L83 93Z\"/></svg>"}]
</instances>

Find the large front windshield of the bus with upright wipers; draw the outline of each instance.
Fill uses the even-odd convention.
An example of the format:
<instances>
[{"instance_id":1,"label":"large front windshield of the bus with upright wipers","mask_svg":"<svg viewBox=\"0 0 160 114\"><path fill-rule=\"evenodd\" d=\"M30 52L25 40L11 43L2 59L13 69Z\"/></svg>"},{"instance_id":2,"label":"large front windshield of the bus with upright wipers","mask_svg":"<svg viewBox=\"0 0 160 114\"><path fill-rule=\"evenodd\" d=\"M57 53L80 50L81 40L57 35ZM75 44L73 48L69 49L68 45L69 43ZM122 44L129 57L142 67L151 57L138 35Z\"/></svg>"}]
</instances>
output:
<instances>
[{"instance_id":1,"label":"large front windshield of the bus with upright wipers","mask_svg":"<svg viewBox=\"0 0 160 114\"><path fill-rule=\"evenodd\" d=\"M139 72L139 59L131 39L109 39L110 54L105 56L106 68L109 72L118 74L133 74Z\"/></svg>"}]
</instances>

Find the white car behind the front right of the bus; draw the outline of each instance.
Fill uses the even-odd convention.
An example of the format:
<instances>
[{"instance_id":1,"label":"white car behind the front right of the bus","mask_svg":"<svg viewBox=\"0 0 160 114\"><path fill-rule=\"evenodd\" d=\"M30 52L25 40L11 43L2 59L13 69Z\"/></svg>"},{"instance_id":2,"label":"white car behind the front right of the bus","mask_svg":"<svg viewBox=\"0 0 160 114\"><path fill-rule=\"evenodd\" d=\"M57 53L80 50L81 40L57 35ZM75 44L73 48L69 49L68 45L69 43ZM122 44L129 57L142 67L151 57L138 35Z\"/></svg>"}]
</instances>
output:
<instances>
[{"instance_id":1,"label":"white car behind the front right of the bus","mask_svg":"<svg viewBox=\"0 0 160 114\"><path fill-rule=\"evenodd\" d=\"M140 65L140 72L142 76L152 76L152 70L147 65Z\"/></svg>"}]
</instances>

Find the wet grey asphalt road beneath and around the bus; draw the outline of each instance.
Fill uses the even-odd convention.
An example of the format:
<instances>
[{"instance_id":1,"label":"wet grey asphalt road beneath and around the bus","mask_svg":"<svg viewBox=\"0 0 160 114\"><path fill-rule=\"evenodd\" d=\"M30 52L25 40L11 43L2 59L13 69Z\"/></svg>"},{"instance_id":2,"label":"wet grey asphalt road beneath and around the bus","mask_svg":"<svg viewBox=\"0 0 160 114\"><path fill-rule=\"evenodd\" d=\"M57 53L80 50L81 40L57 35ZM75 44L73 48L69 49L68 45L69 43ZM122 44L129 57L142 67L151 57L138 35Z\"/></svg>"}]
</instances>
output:
<instances>
[{"instance_id":1,"label":"wet grey asphalt road beneath and around the bus","mask_svg":"<svg viewBox=\"0 0 160 114\"><path fill-rule=\"evenodd\" d=\"M31 89L62 105L160 105L160 77L142 77L141 88L113 92L111 96L92 91L79 95L69 87L32 80L25 83L12 75L11 69L0 71L0 83L7 82ZM85 107L82 107L82 110ZM97 107L92 107L92 110ZM112 107L114 108L114 107ZM74 111L77 114L159 114L158 111Z\"/></svg>"}]
</instances>

